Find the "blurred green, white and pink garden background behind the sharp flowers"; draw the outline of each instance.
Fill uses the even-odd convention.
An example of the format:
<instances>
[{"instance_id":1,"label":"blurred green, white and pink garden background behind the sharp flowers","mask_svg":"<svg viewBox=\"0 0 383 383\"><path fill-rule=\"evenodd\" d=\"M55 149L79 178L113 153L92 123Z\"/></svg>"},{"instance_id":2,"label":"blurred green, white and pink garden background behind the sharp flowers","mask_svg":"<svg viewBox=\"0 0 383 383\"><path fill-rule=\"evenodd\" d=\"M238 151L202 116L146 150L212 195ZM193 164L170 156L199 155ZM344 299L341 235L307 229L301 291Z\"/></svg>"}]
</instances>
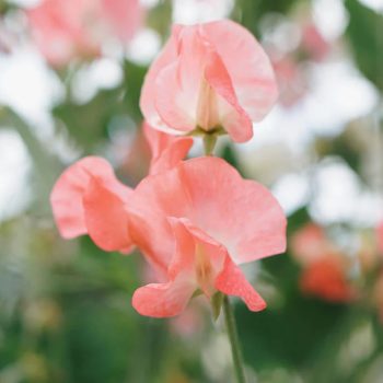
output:
<instances>
[{"instance_id":1,"label":"blurred green, white and pink garden background behind the sharp flowers","mask_svg":"<svg viewBox=\"0 0 383 383\"><path fill-rule=\"evenodd\" d=\"M221 18L262 42L281 93L251 142L217 151L289 219L288 252L245 268L268 309L235 302L249 382L383 382L383 1L144 0L108 16L50 2L0 0L0 382L232 381L204 301L141 317L140 258L61 240L49 207L83 155L146 176L143 76L172 23Z\"/></svg>"}]
</instances>

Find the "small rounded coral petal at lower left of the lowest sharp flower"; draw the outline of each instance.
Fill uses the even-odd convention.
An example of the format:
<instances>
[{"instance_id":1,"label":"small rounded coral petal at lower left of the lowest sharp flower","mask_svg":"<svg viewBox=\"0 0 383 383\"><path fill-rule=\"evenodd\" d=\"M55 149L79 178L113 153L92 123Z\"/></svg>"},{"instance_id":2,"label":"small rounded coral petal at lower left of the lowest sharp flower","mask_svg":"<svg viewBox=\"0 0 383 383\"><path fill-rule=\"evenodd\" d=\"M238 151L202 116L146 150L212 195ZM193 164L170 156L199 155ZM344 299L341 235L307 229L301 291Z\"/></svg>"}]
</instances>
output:
<instances>
[{"instance_id":1,"label":"small rounded coral petal at lower left of the lowest sharp flower","mask_svg":"<svg viewBox=\"0 0 383 383\"><path fill-rule=\"evenodd\" d=\"M170 317L181 314L194 292L186 281L151 283L135 291L132 306L152 317Z\"/></svg>"}]
</instances>

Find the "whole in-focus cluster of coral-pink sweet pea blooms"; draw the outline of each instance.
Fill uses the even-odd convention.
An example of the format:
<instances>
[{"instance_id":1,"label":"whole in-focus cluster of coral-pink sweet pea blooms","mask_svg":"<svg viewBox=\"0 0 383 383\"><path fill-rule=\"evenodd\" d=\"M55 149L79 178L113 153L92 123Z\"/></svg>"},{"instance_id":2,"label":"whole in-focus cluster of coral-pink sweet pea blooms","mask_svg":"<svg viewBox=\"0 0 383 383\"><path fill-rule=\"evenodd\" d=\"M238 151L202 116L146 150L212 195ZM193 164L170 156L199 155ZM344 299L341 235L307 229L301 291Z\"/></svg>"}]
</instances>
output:
<instances>
[{"instance_id":1,"label":"whole in-focus cluster of coral-pink sweet pea blooms","mask_svg":"<svg viewBox=\"0 0 383 383\"><path fill-rule=\"evenodd\" d=\"M239 266L285 252L282 209L225 161L184 160L194 141L185 134L245 141L276 95L267 56L242 26L177 25L141 95L150 174L131 189L105 160L89 156L56 183L51 205L63 237L88 234L121 253L137 246L154 270L156 280L132 297L140 314L177 315L198 293L240 297L252 311L266 306Z\"/></svg>"}]
</instances>

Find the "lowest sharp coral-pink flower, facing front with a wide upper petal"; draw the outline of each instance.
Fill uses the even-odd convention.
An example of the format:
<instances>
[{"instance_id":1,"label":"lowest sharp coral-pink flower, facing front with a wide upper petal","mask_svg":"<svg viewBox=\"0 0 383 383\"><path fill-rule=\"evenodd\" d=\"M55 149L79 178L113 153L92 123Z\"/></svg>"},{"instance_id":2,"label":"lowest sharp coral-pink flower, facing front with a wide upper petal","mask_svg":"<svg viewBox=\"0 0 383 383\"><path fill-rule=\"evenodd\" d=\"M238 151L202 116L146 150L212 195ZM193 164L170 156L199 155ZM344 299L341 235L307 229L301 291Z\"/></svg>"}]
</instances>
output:
<instances>
[{"instance_id":1,"label":"lowest sharp coral-pink flower, facing front with a wide upper petal","mask_svg":"<svg viewBox=\"0 0 383 383\"><path fill-rule=\"evenodd\" d=\"M286 218L262 185L223 160L199 158L143 179L128 209L131 239L161 280L135 292L140 314L177 315L197 291L266 306L237 266L286 247Z\"/></svg>"}]
</instances>

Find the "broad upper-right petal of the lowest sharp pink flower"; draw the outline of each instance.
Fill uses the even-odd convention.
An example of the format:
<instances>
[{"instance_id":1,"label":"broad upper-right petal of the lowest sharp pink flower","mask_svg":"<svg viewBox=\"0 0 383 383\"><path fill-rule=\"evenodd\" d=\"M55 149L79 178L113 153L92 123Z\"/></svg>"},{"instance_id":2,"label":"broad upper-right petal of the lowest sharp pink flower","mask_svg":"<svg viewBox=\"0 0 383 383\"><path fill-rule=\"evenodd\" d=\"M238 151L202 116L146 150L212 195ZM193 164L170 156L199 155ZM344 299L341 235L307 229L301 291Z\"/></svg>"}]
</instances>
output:
<instances>
[{"instance_id":1,"label":"broad upper-right petal of the lowest sharp pink flower","mask_svg":"<svg viewBox=\"0 0 383 383\"><path fill-rule=\"evenodd\" d=\"M190 160L181 174L197 207L192 221L222 243L236 264L285 252L285 213L264 186L217 158Z\"/></svg>"}]
</instances>

